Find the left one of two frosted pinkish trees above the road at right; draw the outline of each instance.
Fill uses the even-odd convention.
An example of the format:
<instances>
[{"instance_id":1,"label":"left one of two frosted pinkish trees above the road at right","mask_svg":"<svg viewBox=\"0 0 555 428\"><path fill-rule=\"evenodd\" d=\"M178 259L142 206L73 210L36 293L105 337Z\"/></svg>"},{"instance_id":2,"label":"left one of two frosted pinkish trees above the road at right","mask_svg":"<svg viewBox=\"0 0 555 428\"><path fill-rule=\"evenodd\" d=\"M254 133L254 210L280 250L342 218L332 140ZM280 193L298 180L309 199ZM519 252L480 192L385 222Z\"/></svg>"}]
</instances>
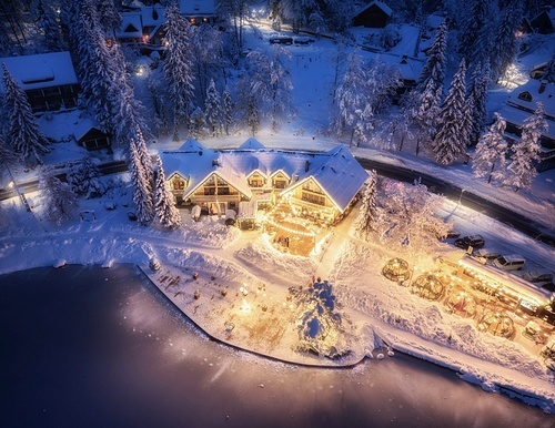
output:
<instances>
[{"instance_id":1,"label":"left one of two frosted pinkish trees above the road at right","mask_svg":"<svg viewBox=\"0 0 555 428\"><path fill-rule=\"evenodd\" d=\"M487 183L491 183L492 179L502 179L504 174L507 153L507 143L503 136L505 128L505 120L498 113L494 113L494 121L490 130L481 136L476 144L472 171L477 177L487 175Z\"/></svg>"}]
</instances>

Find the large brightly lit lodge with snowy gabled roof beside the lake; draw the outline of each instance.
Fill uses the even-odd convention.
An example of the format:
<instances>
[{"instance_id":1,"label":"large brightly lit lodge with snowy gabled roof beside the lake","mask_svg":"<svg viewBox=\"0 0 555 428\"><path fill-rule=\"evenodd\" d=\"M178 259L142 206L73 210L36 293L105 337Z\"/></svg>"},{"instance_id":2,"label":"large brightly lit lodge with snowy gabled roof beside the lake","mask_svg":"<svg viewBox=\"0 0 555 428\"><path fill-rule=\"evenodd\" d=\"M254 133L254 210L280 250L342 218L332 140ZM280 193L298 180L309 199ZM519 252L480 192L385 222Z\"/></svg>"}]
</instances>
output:
<instances>
[{"instance_id":1,"label":"large brightly lit lodge with snowy gabled roof beside the lake","mask_svg":"<svg viewBox=\"0 0 555 428\"><path fill-rule=\"evenodd\" d=\"M337 222L367 179L344 146L300 152L266 149L249 139L238 149L216 151L189 140L160 157L178 206L199 205L211 214L234 210L238 218L282 201L305 215Z\"/></svg>"}]
</instances>

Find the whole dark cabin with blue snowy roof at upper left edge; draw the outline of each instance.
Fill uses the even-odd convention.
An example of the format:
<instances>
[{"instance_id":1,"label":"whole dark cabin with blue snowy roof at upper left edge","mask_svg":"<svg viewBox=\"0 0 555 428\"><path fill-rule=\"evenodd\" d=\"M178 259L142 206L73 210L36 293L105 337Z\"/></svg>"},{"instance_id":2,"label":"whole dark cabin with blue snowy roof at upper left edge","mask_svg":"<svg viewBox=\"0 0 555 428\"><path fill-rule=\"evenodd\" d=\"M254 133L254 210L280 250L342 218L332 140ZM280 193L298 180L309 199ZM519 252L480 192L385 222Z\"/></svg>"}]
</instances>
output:
<instances>
[{"instance_id":1,"label":"whole dark cabin with blue snowy roof at upper left edge","mask_svg":"<svg viewBox=\"0 0 555 428\"><path fill-rule=\"evenodd\" d=\"M77 106L80 85L69 52L0 58L0 63L26 92L33 113Z\"/></svg>"}]
</instances>

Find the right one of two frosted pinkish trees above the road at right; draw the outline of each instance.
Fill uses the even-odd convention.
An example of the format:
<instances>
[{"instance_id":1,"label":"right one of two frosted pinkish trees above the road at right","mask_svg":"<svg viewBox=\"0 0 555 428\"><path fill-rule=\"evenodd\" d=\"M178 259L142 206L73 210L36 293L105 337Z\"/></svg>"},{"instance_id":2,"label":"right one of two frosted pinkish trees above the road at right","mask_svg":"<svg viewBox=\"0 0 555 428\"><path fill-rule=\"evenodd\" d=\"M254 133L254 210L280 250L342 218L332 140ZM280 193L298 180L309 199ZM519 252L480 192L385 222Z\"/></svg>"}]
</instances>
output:
<instances>
[{"instance_id":1,"label":"right one of two frosted pinkish trees above the road at right","mask_svg":"<svg viewBox=\"0 0 555 428\"><path fill-rule=\"evenodd\" d=\"M521 141L511 147L511 164L507 167L505 184L515 188L529 188L537 174L535 164L539 161L539 137L547 132L545 110L541 102L537 103L534 114L524 121Z\"/></svg>"}]
</instances>

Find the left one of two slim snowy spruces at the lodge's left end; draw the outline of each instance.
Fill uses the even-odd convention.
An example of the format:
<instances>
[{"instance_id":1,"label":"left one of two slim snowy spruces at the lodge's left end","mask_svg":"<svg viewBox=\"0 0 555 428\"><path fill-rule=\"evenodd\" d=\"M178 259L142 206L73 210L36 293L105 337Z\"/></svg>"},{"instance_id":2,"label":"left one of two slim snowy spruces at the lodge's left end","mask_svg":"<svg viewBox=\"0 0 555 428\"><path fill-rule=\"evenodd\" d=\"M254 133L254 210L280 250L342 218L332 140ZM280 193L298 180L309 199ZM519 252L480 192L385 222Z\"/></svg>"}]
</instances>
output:
<instances>
[{"instance_id":1,"label":"left one of two slim snowy spruces at the lodge's left end","mask_svg":"<svg viewBox=\"0 0 555 428\"><path fill-rule=\"evenodd\" d=\"M129 172L133 187L133 203L137 207L137 220L148 225L154 218L153 188L150 176L152 171L145 171L141 162L135 141L129 143Z\"/></svg>"}]
</instances>

